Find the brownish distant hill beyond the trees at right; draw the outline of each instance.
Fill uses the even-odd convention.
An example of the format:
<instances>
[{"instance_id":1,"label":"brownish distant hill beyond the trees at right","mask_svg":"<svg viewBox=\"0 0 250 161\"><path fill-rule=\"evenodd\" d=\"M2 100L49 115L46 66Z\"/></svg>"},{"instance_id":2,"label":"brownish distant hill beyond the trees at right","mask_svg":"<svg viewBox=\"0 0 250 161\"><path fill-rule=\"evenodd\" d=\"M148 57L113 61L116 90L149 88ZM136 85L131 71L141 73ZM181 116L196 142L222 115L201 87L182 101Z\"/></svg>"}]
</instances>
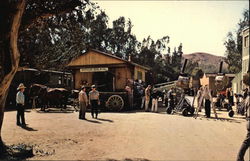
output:
<instances>
[{"instance_id":1,"label":"brownish distant hill beyond the trees at right","mask_svg":"<svg viewBox=\"0 0 250 161\"><path fill-rule=\"evenodd\" d=\"M225 62L225 57L216 56L204 52L196 52L192 54L183 54L183 61L185 59L191 60L192 62L198 62L199 66L205 73L218 73L220 62L223 61L222 72L228 72L228 64Z\"/></svg>"}]
</instances>

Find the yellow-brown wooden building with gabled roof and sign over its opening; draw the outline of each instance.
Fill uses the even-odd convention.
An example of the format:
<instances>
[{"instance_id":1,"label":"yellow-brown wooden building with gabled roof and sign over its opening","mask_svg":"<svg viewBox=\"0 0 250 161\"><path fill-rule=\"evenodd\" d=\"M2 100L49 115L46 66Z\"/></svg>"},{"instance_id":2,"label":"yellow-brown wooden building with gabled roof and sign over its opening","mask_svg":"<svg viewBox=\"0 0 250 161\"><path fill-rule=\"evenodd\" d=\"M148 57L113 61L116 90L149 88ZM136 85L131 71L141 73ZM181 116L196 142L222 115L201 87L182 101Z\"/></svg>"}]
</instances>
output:
<instances>
[{"instance_id":1,"label":"yellow-brown wooden building with gabled roof and sign over its opening","mask_svg":"<svg viewBox=\"0 0 250 161\"><path fill-rule=\"evenodd\" d=\"M149 68L113 54L91 49L73 59L67 67L73 72L74 88L95 84L99 91L122 91L128 79L145 81Z\"/></svg>"}]
</instances>

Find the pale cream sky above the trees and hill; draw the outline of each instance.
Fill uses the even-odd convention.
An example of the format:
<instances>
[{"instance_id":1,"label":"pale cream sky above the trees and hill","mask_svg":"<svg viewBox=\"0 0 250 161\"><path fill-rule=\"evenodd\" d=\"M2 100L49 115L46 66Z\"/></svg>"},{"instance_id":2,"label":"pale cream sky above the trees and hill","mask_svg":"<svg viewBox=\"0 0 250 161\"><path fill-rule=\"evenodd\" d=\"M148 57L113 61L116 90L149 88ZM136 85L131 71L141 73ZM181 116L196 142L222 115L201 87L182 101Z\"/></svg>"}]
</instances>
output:
<instances>
[{"instance_id":1,"label":"pale cream sky above the trees and hill","mask_svg":"<svg viewBox=\"0 0 250 161\"><path fill-rule=\"evenodd\" d=\"M130 18L132 33L139 41L149 35L153 40L168 35L171 51L182 43L184 54L206 52L217 56L224 56L227 33L236 31L244 9L249 9L247 0L92 2L105 11L110 23L120 16Z\"/></svg>"}]
</instances>

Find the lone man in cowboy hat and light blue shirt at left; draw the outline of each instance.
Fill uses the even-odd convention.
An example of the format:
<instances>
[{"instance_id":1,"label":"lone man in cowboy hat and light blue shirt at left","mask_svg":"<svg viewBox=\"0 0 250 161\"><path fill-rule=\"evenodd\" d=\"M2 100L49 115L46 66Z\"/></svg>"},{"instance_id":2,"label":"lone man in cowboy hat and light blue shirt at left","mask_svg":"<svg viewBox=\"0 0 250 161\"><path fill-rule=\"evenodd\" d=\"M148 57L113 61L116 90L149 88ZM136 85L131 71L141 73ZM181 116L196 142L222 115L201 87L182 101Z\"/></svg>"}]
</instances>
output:
<instances>
[{"instance_id":1,"label":"lone man in cowboy hat and light blue shirt at left","mask_svg":"<svg viewBox=\"0 0 250 161\"><path fill-rule=\"evenodd\" d=\"M24 105L25 105L25 97L24 97L24 90L25 90L25 86L23 83L20 83L17 90L17 94L16 94L16 104L17 104L17 116L16 116L16 119L17 119L17 126L26 126L25 124L25 118L24 118ZM21 117L21 121L22 121L22 124L20 123L20 117Z\"/></svg>"}]
</instances>

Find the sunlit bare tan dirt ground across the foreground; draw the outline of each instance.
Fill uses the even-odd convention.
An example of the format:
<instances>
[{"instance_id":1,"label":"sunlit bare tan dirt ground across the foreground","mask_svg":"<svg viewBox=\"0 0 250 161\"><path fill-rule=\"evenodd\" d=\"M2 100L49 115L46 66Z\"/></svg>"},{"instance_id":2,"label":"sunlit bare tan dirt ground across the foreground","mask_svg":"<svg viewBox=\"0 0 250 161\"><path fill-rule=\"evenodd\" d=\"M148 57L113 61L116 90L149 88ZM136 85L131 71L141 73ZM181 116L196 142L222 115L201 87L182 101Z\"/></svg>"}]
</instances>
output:
<instances>
[{"instance_id":1,"label":"sunlit bare tan dirt ground across the foreground","mask_svg":"<svg viewBox=\"0 0 250 161\"><path fill-rule=\"evenodd\" d=\"M235 160L246 136L242 116L197 119L133 111L101 113L79 120L78 112L25 113L27 128L16 126L16 111L5 112L2 136L7 145L34 145L30 160ZM246 160L249 159L249 151Z\"/></svg>"}]
</instances>

